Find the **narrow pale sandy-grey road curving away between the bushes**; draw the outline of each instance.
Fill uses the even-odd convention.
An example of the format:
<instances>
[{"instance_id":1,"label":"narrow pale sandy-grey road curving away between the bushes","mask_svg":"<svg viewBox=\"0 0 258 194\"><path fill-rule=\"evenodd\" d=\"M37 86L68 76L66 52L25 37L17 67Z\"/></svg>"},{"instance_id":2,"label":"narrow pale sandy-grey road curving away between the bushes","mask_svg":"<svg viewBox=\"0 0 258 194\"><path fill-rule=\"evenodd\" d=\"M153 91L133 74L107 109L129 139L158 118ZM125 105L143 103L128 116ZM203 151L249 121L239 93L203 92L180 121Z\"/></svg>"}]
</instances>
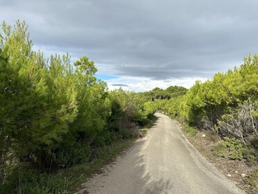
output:
<instances>
[{"instance_id":1,"label":"narrow pale sandy-grey road curving away between the bushes","mask_svg":"<svg viewBox=\"0 0 258 194\"><path fill-rule=\"evenodd\" d=\"M244 193L208 163L165 115L77 193Z\"/></svg>"}]
</instances>

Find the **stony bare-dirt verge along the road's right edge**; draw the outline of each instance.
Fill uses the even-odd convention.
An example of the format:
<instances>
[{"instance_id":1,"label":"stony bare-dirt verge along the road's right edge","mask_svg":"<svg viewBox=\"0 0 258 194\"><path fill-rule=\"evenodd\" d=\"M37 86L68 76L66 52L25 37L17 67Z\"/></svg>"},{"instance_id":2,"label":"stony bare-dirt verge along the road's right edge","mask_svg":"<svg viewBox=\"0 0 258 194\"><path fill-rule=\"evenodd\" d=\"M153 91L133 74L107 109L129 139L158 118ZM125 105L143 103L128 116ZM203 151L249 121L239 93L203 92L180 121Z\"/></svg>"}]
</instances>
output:
<instances>
[{"instance_id":1,"label":"stony bare-dirt verge along the road's right edge","mask_svg":"<svg viewBox=\"0 0 258 194\"><path fill-rule=\"evenodd\" d=\"M176 123L181 126L178 122ZM246 193L258 193L258 177L252 175L258 170L258 166L248 166L246 160L230 160L227 157L220 157L214 151L214 147L219 143L219 138L211 132L199 131L196 136L189 136L185 132L184 134L203 157L216 166L228 179L234 181L239 188Z\"/></svg>"}]
</instances>

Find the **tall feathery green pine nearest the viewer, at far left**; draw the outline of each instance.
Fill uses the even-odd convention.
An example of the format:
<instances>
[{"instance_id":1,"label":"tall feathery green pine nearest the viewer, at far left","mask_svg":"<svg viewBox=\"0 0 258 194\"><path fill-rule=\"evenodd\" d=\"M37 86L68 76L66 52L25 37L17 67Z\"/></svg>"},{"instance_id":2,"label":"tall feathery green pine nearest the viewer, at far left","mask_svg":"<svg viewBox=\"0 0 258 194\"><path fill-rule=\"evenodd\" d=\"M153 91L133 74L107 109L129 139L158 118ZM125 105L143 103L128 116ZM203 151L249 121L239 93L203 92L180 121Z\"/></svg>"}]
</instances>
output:
<instances>
[{"instance_id":1,"label":"tall feathery green pine nearest the viewer, at far left","mask_svg":"<svg viewBox=\"0 0 258 194\"><path fill-rule=\"evenodd\" d=\"M47 63L42 53L31 51L26 30L19 21L13 29L3 24L1 59L8 58L1 63L0 128L8 148L2 161L9 157L9 162L19 159L45 168L51 147L62 141L77 116L77 93L68 55L51 56Z\"/></svg>"}]
</instances>

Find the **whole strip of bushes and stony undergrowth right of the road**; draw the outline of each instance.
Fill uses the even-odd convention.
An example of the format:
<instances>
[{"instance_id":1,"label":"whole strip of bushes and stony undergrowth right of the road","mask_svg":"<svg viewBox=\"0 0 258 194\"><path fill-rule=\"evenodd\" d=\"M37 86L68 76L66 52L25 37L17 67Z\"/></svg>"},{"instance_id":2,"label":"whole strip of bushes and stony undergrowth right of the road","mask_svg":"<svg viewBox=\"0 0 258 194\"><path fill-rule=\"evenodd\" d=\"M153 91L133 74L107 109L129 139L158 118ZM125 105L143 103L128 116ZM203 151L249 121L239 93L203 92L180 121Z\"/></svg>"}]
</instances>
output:
<instances>
[{"instance_id":1,"label":"whole strip of bushes and stony undergrowth right of the road","mask_svg":"<svg viewBox=\"0 0 258 194\"><path fill-rule=\"evenodd\" d=\"M187 92L167 98L166 91L156 88L141 94L149 99L146 109L179 121L192 143L199 142L199 150L234 162L229 168L247 166L248 170L240 173L241 184L248 193L257 193L258 54L244 58L241 67L216 73L205 82L197 80Z\"/></svg>"}]
</instances>

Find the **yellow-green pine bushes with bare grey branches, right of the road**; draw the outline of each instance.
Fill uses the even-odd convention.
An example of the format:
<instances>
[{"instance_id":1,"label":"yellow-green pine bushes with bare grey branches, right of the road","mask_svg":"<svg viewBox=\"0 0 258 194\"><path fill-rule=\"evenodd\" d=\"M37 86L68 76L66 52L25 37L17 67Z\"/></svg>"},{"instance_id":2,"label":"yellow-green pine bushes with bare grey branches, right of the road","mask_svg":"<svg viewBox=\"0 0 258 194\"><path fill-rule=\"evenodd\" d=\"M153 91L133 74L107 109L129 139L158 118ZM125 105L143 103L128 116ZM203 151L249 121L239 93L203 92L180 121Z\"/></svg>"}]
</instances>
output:
<instances>
[{"instance_id":1,"label":"yellow-green pine bushes with bare grey branches, right of the road","mask_svg":"<svg viewBox=\"0 0 258 194\"><path fill-rule=\"evenodd\" d=\"M203 83L197 81L181 100L181 109L177 114L190 125L204 130L218 130L219 134L229 136L225 134L227 132L246 143L249 136L257 133L257 76L258 54L249 55L244 58L241 67L216 73L211 80ZM225 125L216 127L221 122ZM239 122L241 132L237 131ZM230 125L234 129L229 128Z\"/></svg>"}]
</instances>

